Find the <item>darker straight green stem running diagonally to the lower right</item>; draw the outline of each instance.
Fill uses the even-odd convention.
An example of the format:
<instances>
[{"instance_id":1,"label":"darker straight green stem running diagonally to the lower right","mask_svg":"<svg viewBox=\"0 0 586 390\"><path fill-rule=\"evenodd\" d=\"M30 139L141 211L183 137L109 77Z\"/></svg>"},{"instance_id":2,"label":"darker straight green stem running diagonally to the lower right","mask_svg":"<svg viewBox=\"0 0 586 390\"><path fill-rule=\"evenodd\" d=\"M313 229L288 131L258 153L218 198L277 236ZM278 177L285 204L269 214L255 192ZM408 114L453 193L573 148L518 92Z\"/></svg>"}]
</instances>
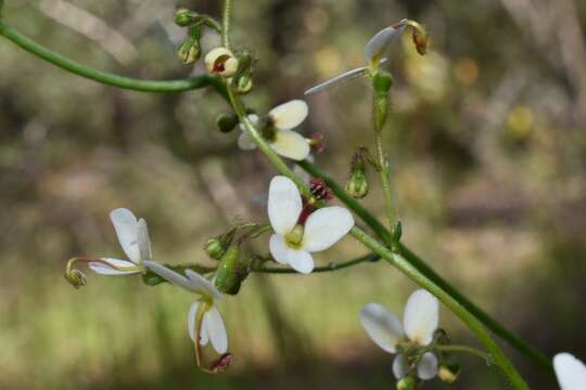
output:
<instances>
[{"instance_id":1,"label":"darker straight green stem running diagonally to the lower right","mask_svg":"<svg viewBox=\"0 0 586 390\"><path fill-rule=\"evenodd\" d=\"M344 188L337 184L331 177L322 172L319 168L314 166L311 162L304 160L297 162L305 171L310 173L313 177L320 178L323 182L332 190L332 192L342 200L348 208L351 208L366 224L374 231L374 233L387 244L387 246L393 245L393 239L391 233L374 218L372 214L362 207L362 205L355 198L348 196ZM398 255L406 259L411 265L413 265L419 272L432 280L437 286L442 287L446 292L448 292L454 299L456 299L460 304L468 309L472 314L474 314L482 323L505 341L509 342L519 352L524 354L526 358L531 359L533 362L542 366L547 373L551 376L555 376L553 367L550 360L540 351L530 346L525 340L515 335L514 333L508 330L502 326L498 321L493 318L486 312L484 312L480 307L473 303L470 299L463 296L456 287L449 284L446 280L440 276L431 266L429 266L422 259L415 255L408 247L398 243L397 245Z\"/></svg>"}]
</instances>

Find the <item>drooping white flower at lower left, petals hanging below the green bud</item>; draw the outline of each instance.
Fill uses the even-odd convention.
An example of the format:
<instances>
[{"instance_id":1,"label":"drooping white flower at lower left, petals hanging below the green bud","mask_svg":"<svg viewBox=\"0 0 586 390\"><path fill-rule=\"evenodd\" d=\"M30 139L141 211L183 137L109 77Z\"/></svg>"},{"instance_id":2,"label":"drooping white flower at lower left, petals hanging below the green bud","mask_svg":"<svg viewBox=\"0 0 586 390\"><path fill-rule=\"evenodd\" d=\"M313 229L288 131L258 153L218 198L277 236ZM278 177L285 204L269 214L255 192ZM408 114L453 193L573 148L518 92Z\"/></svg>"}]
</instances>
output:
<instances>
[{"instance_id":1,"label":"drooping white flower at lower left, petals hanging below the green bud","mask_svg":"<svg viewBox=\"0 0 586 390\"><path fill-rule=\"evenodd\" d=\"M151 271L171 284L200 296L191 304L188 313L189 336L191 340L195 341L195 334L199 328L200 346L206 346L211 341L216 352L219 354L226 353L228 351L228 334L216 307L216 303L221 299L221 292L216 286L191 270L186 270L186 277L158 263L152 261L145 261L144 263Z\"/></svg>"}]
</instances>

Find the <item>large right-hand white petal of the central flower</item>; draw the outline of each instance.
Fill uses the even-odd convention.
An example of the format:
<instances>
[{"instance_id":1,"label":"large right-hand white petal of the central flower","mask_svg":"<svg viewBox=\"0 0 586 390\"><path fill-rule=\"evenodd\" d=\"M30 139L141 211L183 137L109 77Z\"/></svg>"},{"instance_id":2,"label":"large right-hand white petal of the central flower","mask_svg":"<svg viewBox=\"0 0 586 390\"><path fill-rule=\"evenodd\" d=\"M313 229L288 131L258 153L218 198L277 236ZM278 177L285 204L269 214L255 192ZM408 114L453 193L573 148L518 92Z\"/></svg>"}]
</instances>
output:
<instances>
[{"instance_id":1,"label":"large right-hand white petal of the central flower","mask_svg":"<svg viewBox=\"0 0 586 390\"><path fill-rule=\"evenodd\" d=\"M310 252L328 249L344 237L352 226L354 217L344 207L321 208L307 218L302 246Z\"/></svg>"}]
</instances>

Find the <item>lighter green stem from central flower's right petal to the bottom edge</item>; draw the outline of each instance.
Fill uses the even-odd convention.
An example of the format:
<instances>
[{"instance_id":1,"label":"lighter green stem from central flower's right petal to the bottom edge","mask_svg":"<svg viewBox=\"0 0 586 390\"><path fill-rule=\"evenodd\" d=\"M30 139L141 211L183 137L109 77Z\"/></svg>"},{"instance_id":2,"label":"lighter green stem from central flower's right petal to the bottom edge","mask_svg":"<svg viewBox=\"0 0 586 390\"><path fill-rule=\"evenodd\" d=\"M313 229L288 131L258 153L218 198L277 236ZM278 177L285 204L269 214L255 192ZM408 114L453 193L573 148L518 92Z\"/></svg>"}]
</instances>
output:
<instances>
[{"instance_id":1,"label":"lighter green stem from central flower's right petal to the bottom edge","mask_svg":"<svg viewBox=\"0 0 586 390\"><path fill-rule=\"evenodd\" d=\"M486 332L482 323L470 313L463 306L461 306L456 299L451 298L449 294L443 290L440 286L433 283L430 278L420 273L413 265L400 256L394 253L380 244L374 238L370 237L366 232L357 226L354 226L351 234L367 248L374 253L380 255L391 265L399 269L407 277L417 283L419 286L425 288L433 294L440 301L448 307L476 336L476 338L483 343L486 350L491 353L495 363L500 366L505 375L509 378L510 384L514 389L528 389L527 384L521 378L520 374L514 368L511 361L502 353L498 344L491 338L491 335Z\"/></svg>"}]
</instances>

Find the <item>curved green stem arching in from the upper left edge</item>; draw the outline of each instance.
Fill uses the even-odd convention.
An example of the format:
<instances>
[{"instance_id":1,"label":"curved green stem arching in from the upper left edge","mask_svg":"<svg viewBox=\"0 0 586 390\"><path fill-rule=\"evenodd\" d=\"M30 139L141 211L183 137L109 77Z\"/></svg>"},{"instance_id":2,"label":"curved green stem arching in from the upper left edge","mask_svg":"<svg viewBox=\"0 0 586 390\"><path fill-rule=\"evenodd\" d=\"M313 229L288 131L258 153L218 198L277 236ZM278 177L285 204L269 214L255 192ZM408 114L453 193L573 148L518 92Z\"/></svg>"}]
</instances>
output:
<instances>
[{"instance_id":1,"label":"curved green stem arching in from the upper left edge","mask_svg":"<svg viewBox=\"0 0 586 390\"><path fill-rule=\"evenodd\" d=\"M16 29L8 26L3 22L0 22L0 35L8 38L15 44L20 46L29 53L50 62L51 64L68 70L78 76L102 82L109 86L124 88L128 90L141 91L141 92L182 92L199 88L213 87L216 92L228 99L226 87L216 77L208 75L200 75L180 80L139 80L129 77L118 76L97 69L89 68L76 61L69 60L59 53L55 53L28 37L25 37Z\"/></svg>"}]
</instances>

